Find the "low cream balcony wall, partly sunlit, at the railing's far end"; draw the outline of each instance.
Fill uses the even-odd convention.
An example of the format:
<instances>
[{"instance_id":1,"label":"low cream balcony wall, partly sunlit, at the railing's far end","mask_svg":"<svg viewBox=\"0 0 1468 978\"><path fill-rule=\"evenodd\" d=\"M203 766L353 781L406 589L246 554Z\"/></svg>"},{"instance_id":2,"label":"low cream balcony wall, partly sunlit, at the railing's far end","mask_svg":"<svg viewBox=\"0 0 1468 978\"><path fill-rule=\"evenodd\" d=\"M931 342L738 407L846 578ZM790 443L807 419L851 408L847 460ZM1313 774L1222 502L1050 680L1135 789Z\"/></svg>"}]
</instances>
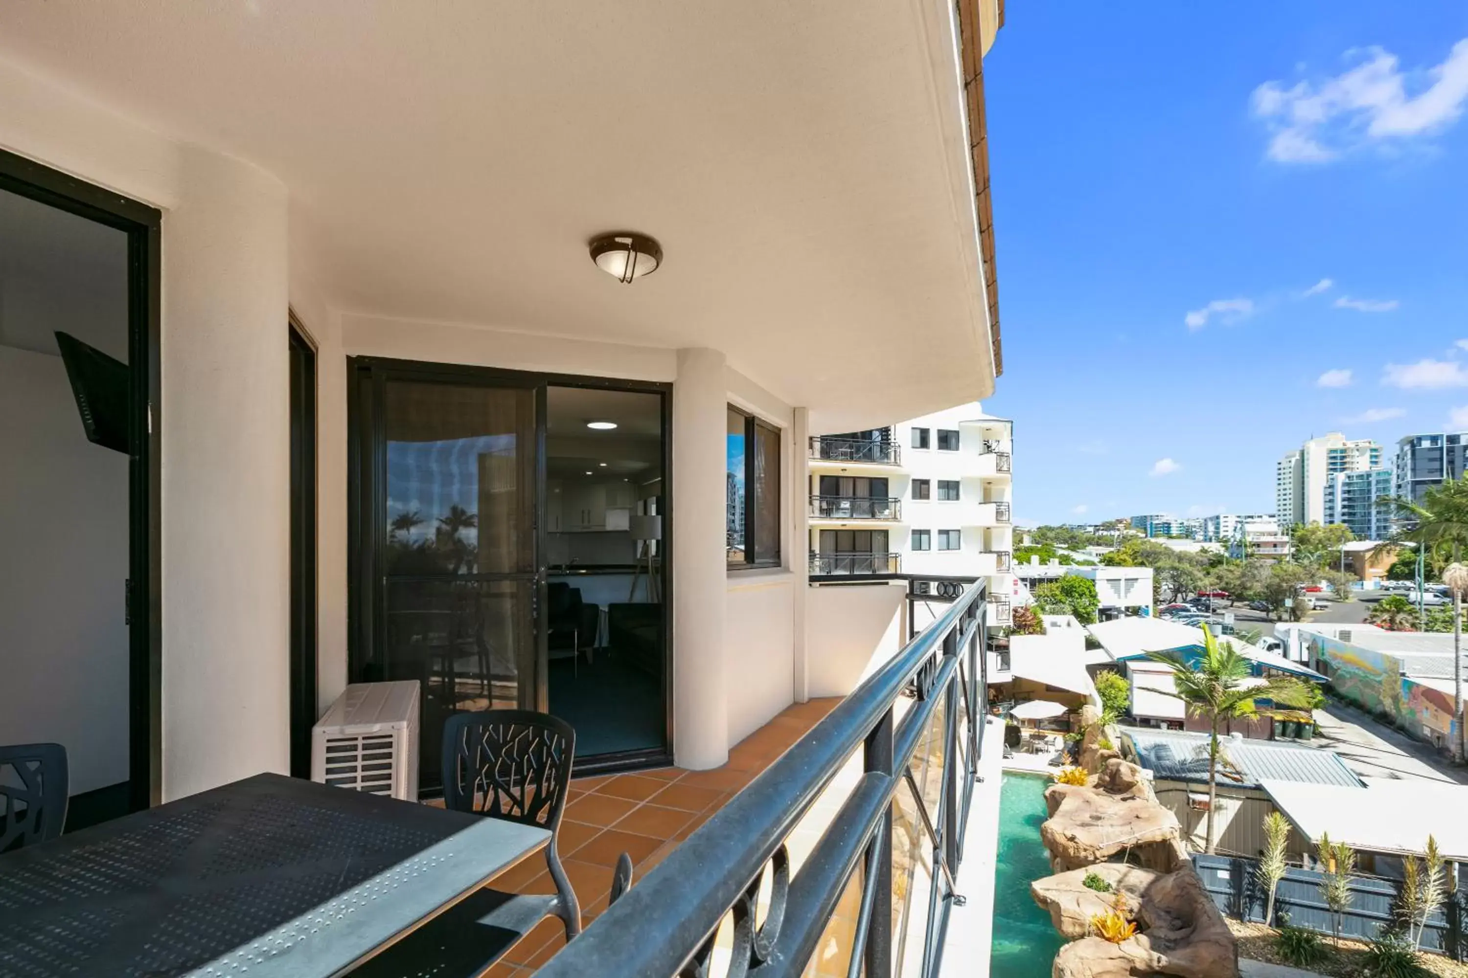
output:
<instances>
[{"instance_id":1,"label":"low cream balcony wall, partly sunlit, at the railing's far end","mask_svg":"<svg viewBox=\"0 0 1468 978\"><path fill-rule=\"evenodd\" d=\"M906 594L904 582L807 588L812 696L844 696L897 654L907 641Z\"/></svg>"}]
</instances>

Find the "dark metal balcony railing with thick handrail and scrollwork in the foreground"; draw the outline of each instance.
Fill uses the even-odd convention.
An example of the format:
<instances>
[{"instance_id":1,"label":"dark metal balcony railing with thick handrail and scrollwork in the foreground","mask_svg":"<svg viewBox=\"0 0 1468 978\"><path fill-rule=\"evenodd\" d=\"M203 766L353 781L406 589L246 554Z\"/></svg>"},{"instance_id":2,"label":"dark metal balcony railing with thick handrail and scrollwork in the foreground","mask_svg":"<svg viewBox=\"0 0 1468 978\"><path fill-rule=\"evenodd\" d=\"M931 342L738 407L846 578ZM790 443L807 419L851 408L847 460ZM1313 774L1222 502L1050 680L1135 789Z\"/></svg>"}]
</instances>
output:
<instances>
[{"instance_id":1,"label":"dark metal balcony railing with thick handrail and scrollwork in the foreground","mask_svg":"<svg viewBox=\"0 0 1468 978\"><path fill-rule=\"evenodd\" d=\"M847 933L828 925L850 884L846 974L937 975L988 713L984 603L970 585L537 974L708 975L728 918L730 975L794 978ZM791 871L791 831L853 755L862 777Z\"/></svg>"}]
</instances>

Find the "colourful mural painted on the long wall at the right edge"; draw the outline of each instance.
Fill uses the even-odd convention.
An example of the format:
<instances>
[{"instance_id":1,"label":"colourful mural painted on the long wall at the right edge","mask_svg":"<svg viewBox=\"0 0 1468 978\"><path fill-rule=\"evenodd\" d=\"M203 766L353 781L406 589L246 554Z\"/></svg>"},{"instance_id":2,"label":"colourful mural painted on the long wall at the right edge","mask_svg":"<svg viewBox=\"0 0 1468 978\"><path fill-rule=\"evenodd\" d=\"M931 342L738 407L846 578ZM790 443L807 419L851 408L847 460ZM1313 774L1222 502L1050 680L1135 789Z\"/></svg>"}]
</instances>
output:
<instances>
[{"instance_id":1,"label":"colourful mural painted on the long wall at the right edge","mask_svg":"<svg viewBox=\"0 0 1468 978\"><path fill-rule=\"evenodd\" d=\"M1386 713L1414 738L1452 742L1452 695L1403 676L1396 655L1324 635L1309 636L1309 651L1317 666L1324 666L1321 672L1330 676L1334 691L1346 699L1373 713Z\"/></svg>"}]
</instances>

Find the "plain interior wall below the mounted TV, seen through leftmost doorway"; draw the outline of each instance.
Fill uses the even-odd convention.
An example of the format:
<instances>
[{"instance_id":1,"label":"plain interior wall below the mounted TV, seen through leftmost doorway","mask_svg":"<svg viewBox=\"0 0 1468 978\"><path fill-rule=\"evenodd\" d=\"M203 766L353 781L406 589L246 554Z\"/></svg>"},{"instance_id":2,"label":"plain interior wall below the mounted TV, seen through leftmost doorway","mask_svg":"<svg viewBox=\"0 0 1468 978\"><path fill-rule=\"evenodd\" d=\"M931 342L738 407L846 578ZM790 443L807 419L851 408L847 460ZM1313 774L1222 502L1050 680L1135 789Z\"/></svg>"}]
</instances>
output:
<instances>
[{"instance_id":1,"label":"plain interior wall below the mounted TV, seen through leftmost doorway","mask_svg":"<svg viewBox=\"0 0 1468 978\"><path fill-rule=\"evenodd\" d=\"M60 356L0 346L0 743L128 780L128 457L87 441Z\"/></svg>"}]
</instances>

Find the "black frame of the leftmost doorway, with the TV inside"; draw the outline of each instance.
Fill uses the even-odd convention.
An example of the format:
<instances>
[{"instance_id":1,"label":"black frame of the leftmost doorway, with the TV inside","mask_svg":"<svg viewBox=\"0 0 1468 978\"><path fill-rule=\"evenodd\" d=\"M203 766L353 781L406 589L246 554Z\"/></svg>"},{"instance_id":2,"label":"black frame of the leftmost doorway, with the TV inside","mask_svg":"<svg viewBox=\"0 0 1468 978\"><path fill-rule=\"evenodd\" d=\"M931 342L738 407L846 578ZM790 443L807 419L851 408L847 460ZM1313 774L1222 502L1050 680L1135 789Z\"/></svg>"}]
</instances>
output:
<instances>
[{"instance_id":1,"label":"black frame of the leftmost doorway, with the TV inside","mask_svg":"<svg viewBox=\"0 0 1468 978\"><path fill-rule=\"evenodd\" d=\"M128 236L128 806L163 801L160 433L163 213L0 150L0 189Z\"/></svg>"}]
</instances>

